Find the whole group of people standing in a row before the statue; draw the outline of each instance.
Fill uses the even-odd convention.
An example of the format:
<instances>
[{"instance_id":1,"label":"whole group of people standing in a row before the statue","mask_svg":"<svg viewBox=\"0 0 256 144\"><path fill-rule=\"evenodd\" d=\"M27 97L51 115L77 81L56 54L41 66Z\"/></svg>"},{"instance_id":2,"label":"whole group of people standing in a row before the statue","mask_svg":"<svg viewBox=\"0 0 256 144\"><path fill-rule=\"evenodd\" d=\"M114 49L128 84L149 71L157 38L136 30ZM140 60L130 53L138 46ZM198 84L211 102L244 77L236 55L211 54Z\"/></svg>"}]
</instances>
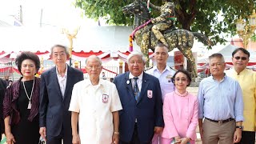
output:
<instances>
[{"instance_id":1,"label":"whole group of people standing in a row before the statue","mask_svg":"<svg viewBox=\"0 0 256 144\"><path fill-rule=\"evenodd\" d=\"M166 65L161 43L156 66L145 72L145 57L134 51L129 71L113 82L100 78L95 55L86 58L89 78L83 80L82 71L66 64L69 53L61 45L50 50L54 68L36 78L38 56L22 52L15 61L22 77L0 89L2 133L8 144L36 144L40 137L47 144L193 144L199 125L205 144L254 144L256 74L246 69L247 50L232 56L234 68L227 71L222 54L209 57L212 75L200 82L197 97L186 90L190 74Z\"/></svg>"}]
</instances>

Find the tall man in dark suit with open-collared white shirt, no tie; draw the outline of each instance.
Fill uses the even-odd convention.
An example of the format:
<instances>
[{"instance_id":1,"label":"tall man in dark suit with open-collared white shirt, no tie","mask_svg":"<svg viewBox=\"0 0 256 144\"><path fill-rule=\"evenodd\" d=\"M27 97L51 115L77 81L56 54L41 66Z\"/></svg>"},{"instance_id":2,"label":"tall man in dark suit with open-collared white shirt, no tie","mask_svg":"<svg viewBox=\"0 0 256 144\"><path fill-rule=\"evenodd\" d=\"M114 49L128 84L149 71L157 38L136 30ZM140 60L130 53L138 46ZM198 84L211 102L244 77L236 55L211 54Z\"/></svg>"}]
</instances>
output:
<instances>
[{"instance_id":1,"label":"tall man in dark suit with open-collared white shirt, no tie","mask_svg":"<svg viewBox=\"0 0 256 144\"><path fill-rule=\"evenodd\" d=\"M83 80L82 71L66 64L69 53L65 46L55 45L50 57L56 65L41 75L39 126L47 144L72 143L71 93L75 83Z\"/></svg>"}]
</instances>

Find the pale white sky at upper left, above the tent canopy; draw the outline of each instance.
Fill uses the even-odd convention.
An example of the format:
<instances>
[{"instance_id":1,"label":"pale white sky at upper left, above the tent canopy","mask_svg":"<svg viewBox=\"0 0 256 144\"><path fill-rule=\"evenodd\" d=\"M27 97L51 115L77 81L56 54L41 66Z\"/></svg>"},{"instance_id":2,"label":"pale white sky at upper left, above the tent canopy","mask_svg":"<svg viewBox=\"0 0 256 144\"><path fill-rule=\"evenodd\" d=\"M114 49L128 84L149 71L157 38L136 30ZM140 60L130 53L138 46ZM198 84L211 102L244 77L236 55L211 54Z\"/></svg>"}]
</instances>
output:
<instances>
[{"instance_id":1,"label":"pale white sky at upper left, above the tent canopy","mask_svg":"<svg viewBox=\"0 0 256 144\"><path fill-rule=\"evenodd\" d=\"M44 26L82 26L97 25L98 22L82 18L82 10L75 8L74 0L0 0L0 18L7 15L18 15L22 5L23 24L39 26L42 10Z\"/></svg>"}]
</instances>

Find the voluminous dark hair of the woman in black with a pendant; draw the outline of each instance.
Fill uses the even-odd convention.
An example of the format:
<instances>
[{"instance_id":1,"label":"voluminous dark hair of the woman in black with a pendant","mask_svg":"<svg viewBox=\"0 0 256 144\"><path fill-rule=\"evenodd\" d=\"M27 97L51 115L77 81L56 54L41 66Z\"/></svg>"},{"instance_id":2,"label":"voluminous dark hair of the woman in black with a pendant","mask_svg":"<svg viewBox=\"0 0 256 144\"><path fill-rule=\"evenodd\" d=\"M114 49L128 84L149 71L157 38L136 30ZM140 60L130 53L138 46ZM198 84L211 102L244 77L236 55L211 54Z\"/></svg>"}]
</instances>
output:
<instances>
[{"instance_id":1,"label":"voluminous dark hair of the woman in black with a pendant","mask_svg":"<svg viewBox=\"0 0 256 144\"><path fill-rule=\"evenodd\" d=\"M22 67L22 62L26 59L30 59L34 62L35 67L36 67L36 72L38 73L38 70L40 68L40 60L38 58L37 54L34 54L30 51L23 51L22 54L19 54L15 60L15 64L18 66L18 71L22 74L21 67Z\"/></svg>"}]
</instances>

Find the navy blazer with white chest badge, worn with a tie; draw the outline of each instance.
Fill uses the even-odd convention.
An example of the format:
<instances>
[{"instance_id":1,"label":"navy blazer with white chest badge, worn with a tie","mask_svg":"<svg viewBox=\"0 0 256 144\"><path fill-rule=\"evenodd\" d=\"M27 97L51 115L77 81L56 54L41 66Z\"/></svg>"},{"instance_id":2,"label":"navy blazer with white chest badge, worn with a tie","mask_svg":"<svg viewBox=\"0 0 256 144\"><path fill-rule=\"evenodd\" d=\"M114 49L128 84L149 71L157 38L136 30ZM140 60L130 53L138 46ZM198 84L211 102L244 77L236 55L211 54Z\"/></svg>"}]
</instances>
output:
<instances>
[{"instance_id":1,"label":"navy blazer with white chest badge, worn with a tie","mask_svg":"<svg viewBox=\"0 0 256 144\"><path fill-rule=\"evenodd\" d=\"M122 110L119 111L120 139L130 142L134 132L135 118L137 118L138 138L141 142L150 142L154 135L154 126L164 126L162 94L158 78L150 74L143 74L138 102L134 98L129 72L114 78L114 84L117 86L122 102ZM149 98L150 92L153 92L152 98Z\"/></svg>"}]
</instances>

